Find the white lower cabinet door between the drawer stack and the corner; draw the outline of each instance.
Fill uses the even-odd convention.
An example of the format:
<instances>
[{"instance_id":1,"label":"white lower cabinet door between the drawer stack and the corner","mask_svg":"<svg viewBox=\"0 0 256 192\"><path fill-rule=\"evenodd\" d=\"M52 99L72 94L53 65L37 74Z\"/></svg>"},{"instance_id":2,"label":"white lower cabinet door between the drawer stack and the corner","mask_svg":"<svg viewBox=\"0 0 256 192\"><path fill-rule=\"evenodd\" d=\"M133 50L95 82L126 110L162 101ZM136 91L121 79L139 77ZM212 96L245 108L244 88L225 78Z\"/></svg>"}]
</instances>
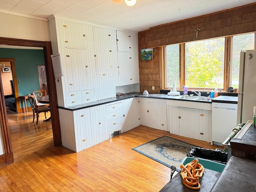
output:
<instances>
[{"instance_id":1,"label":"white lower cabinet door between the drawer stack and the corner","mask_svg":"<svg viewBox=\"0 0 256 192\"><path fill-rule=\"evenodd\" d=\"M126 132L140 125L140 111L138 98L123 100L123 127L122 131Z\"/></svg>"}]
</instances>

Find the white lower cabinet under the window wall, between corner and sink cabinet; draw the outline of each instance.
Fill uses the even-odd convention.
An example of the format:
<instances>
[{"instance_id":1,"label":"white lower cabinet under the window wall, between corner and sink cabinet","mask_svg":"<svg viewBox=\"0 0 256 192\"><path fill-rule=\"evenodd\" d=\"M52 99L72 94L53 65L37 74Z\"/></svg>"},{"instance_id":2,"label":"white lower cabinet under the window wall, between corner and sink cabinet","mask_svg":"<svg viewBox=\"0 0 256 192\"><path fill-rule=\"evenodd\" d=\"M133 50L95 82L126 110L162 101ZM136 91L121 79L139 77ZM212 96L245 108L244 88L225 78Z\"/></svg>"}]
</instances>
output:
<instances>
[{"instance_id":1,"label":"white lower cabinet under the window wall, between corner and sink cabinet","mask_svg":"<svg viewBox=\"0 0 256 192\"><path fill-rule=\"evenodd\" d=\"M139 101L140 124L167 131L166 100L141 98Z\"/></svg>"}]
</instances>

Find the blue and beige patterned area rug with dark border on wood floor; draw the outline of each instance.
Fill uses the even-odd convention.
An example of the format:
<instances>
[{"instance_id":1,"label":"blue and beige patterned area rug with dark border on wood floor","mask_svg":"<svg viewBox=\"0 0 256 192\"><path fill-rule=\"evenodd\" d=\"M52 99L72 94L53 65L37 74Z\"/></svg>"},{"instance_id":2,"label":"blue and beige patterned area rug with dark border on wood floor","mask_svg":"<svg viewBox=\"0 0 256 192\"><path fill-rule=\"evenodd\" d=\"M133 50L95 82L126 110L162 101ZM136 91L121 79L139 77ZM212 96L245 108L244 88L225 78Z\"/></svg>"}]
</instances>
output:
<instances>
[{"instance_id":1,"label":"blue and beige patterned area rug with dark border on wood floor","mask_svg":"<svg viewBox=\"0 0 256 192\"><path fill-rule=\"evenodd\" d=\"M182 160L193 147L196 146L168 136L162 136L132 148L132 150L160 162L165 166L171 167L173 165L176 167L176 170L179 171Z\"/></svg>"}]
</instances>

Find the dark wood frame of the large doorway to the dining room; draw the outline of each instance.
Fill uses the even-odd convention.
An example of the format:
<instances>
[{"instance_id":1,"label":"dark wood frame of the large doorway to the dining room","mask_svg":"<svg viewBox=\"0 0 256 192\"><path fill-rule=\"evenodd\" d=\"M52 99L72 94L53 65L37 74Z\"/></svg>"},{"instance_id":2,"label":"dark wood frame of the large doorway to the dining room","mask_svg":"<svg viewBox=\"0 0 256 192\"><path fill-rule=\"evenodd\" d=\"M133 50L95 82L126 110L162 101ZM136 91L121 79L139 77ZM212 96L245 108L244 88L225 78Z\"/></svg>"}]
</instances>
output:
<instances>
[{"instance_id":1,"label":"dark wood frame of the large doorway to the dining room","mask_svg":"<svg viewBox=\"0 0 256 192\"><path fill-rule=\"evenodd\" d=\"M2 45L11 45L11 46L27 46L27 47L41 47L44 48L44 62L46 69L46 79L48 82L48 92L49 92L49 100L50 100L50 112L52 119L52 132L53 132L53 140L54 146L61 146L61 134L60 134L60 118L58 112L58 102L57 102L57 91L56 84L54 78L54 72L52 67L52 46L51 42L48 41L35 41L35 40L24 40L24 39L14 39L14 38L4 38L0 37L0 44ZM12 144L10 139L10 132L4 102L4 92L2 87L2 79L0 79L0 125L3 135L4 141L4 158L5 164L11 163L14 161L13 152L12 152ZM3 156L0 156L0 164L4 164Z\"/></svg>"}]
</instances>

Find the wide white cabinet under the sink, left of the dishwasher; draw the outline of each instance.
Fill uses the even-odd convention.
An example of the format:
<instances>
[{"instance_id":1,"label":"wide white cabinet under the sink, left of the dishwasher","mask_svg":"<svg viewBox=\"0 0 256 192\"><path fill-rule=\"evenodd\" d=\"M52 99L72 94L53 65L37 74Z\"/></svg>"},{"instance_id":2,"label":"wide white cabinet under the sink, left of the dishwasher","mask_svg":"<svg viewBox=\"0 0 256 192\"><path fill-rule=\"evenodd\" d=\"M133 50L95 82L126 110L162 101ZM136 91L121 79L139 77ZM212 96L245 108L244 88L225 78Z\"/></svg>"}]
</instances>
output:
<instances>
[{"instance_id":1,"label":"wide white cabinet under the sink, left of the dishwasher","mask_svg":"<svg viewBox=\"0 0 256 192\"><path fill-rule=\"evenodd\" d=\"M167 106L168 129L176 134L211 142L211 111L178 106Z\"/></svg>"}]
</instances>

